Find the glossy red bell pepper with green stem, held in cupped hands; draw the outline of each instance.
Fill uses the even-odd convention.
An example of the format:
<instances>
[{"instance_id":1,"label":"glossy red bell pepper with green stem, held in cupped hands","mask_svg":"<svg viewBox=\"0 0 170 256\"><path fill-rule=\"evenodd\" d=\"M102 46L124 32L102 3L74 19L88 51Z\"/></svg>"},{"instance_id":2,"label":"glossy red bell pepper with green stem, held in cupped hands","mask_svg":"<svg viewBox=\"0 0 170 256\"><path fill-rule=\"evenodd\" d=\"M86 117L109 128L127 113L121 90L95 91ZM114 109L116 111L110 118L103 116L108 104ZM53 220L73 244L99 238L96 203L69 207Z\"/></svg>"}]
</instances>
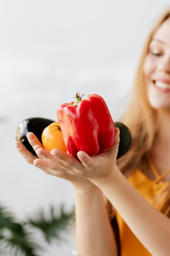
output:
<instances>
[{"instance_id":1,"label":"glossy red bell pepper with green stem, held in cupped hands","mask_svg":"<svg viewBox=\"0 0 170 256\"><path fill-rule=\"evenodd\" d=\"M90 156L104 153L115 141L115 127L106 102L98 94L82 100L78 92L75 99L57 109L68 152L76 158L78 151Z\"/></svg>"}]
</instances>

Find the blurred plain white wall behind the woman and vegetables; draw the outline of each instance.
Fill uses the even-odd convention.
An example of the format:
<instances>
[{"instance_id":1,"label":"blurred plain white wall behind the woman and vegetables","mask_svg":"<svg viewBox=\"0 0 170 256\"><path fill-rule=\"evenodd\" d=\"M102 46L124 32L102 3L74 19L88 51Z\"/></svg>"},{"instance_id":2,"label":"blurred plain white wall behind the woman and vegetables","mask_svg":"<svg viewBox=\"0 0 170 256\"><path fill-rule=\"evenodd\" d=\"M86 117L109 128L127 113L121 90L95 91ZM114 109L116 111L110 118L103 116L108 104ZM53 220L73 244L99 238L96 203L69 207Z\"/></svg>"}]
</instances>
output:
<instances>
[{"instance_id":1,"label":"blurred plain white wall behind the woman and vegetables","mask_svg":"<svg viewBox=\"0 0 170 256\"><path fill-rule=\"evenodd\" d=\"M0 203L19 221L51 204L66 211L74 205L71 184L15 149L20 121L55 121L57 107L75 92L100 94L118 121L146 36L169 7L169 0L0 1ZM44 244L40 255L71 256L74 236L68 240Z\"/></svg>"}]
</instances>

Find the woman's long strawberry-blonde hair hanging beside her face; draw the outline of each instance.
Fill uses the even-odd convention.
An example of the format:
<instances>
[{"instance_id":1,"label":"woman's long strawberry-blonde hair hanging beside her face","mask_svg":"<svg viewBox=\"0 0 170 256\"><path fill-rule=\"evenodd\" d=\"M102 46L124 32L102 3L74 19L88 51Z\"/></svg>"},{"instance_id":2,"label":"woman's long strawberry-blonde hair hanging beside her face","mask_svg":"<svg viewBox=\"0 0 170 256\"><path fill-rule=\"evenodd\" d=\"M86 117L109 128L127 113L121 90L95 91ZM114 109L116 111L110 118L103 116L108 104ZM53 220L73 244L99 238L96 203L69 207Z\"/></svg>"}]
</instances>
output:
<instances>
[{"instance_id":1,"label":"woman's long strawberry-blonde hair hanging beside her face","mask_svg":"<svg viewBox=\"0 0 170 256\"><path fill-rule=\"evenodd\" d=\"M170 18L170 9L163 13L146 40L137 67L132 101L127 112L120 120L128 126L132 134L132 145L129 152L117 160L119 168L125 175L147 162L147 156L157 134L157 110L150 106L146 94L144 62L155 32L168 18ZM164 204L161 208L161 211L170 217L170 187L166 189Z\"/></svg>"}]
</instances>

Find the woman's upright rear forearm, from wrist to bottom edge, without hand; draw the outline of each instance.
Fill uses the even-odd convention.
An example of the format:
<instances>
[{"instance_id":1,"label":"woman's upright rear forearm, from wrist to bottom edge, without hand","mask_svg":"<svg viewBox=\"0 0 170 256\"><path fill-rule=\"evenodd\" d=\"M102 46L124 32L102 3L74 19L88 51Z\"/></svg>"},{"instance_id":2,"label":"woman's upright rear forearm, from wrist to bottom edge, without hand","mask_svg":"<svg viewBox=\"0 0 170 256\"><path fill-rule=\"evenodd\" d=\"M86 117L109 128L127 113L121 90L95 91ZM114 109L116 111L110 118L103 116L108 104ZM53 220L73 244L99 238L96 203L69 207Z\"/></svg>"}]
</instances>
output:
<instances>
[{"instance_id":1,"label":"woman's upright rear forearm, from wrist to bottom edge, without hand","mask_svg":"<svg viewBox=\"0 0 170 256\"><path fill-rule=\"evenodd\" d=\"M76 242L81 256L117 256L117 245L102 192L75 194Z\"/></svg>"}]
</instances>

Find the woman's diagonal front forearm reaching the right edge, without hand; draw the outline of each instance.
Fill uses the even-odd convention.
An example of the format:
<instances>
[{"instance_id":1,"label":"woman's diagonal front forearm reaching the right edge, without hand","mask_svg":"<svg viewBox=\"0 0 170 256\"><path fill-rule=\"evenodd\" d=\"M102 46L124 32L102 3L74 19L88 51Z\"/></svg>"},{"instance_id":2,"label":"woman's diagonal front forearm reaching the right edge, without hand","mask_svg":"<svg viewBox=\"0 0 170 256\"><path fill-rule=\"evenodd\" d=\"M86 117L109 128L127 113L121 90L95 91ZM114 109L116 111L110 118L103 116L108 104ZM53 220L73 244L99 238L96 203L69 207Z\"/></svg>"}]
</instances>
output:
<instances>
[{"instance_id":1,"label":"woman's diagonal front forearm reaching the right edge, without hand","mask_svg":"<svg viewBox=\"0 0 170 256\"><path fill-rule=\"evenodd\" d=\"M154 256L170 255L170 219L150 205L131 186L119 169L98 186L132 232Z\"/></svg>"}]
</instances>

